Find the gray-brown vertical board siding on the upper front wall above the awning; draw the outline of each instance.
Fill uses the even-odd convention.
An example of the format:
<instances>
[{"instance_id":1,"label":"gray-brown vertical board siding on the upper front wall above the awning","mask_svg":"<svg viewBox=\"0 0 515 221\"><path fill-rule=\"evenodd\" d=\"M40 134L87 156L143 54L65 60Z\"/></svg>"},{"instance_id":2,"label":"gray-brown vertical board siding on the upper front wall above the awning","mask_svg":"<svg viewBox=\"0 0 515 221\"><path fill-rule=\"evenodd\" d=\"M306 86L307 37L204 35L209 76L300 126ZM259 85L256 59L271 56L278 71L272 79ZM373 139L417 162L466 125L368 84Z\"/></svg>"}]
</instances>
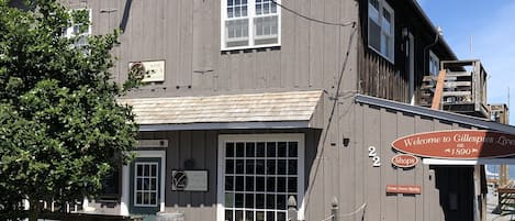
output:
<instances>
[{"instance_id":1,"label":"gray-brown vertical board siding on the upper front wall above the awning","mask_svg":"<svg viewBox=\"0 0 515 221\"><path fill-rule=\"evenodd\" d=\"M78 0L70 0L75 1ZM165 81L149 84L131 97L334 89L347 51L349 58L340 89L356 90L357 36L350 46L349 38L358 26L325 25L282 10L281 46L223 52L220 3L220 0L88 0L74 5L92 9L93 34L105 34L126 23L121 44L113 49L117 57L116 80L126 79L130 62L165 60ZM358 16L355 1L282 3L323 21L345 23L357 21Z\"/></svg>"}]
</instances>

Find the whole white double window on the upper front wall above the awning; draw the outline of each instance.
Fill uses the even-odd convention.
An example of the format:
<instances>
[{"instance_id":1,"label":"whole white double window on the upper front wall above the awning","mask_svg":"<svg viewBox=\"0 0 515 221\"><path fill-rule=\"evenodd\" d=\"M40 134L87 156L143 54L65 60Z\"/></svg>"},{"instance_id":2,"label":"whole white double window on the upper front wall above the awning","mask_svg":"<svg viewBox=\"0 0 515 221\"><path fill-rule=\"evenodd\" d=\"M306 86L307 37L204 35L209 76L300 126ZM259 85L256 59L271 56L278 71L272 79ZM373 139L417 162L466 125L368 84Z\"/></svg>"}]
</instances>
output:
<instances>
[{"instance_id":1,"label":"whole white double window on the upper front wall above the awning","mask_svg":"<svg viewBox=\"0 0 515 221\"><path fill-rule=\"evenodd\" d=\"M281 44L281 9L272 0L221 2L222 49L270 47Z\"/></svg>"}]
</instances>

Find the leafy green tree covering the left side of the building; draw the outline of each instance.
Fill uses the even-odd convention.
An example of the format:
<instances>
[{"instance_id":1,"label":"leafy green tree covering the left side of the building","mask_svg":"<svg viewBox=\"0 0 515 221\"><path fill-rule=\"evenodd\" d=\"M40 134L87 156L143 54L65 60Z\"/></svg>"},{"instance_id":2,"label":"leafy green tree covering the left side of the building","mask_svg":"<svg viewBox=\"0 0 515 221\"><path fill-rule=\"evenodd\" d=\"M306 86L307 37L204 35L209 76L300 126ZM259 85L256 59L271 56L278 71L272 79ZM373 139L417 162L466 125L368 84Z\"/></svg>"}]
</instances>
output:
<instances>
[{"instance_id":1,"label":"leafy green tree covering the left side of the building","mask_svg":"<svg viewBox=\"0 0 515 221\"><path fill-rule=\"evenodd\" d=\"M116 98L139 85L110 73L117 32L64 37L72 24L88 26L85 11L56 0L25 1L23 10L0 0L0 219L20 219L29 200L72 201L98 194L103 177L125 163L137 125ZM121 157L117 157L121 156Z\"/></svg>"}]
</instances>

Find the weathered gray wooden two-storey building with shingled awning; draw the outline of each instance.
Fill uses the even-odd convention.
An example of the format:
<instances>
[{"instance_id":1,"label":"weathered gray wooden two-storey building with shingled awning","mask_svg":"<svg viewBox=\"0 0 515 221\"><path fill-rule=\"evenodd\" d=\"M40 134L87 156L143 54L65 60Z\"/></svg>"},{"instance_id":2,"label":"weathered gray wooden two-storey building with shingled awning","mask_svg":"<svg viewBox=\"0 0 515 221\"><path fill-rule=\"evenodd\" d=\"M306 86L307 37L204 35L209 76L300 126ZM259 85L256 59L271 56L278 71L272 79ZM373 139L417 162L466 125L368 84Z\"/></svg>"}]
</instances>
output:
<instances>
[{"instance_id":1,"label":"weathered gray wooden two-storey building with shingled awning","mask_svg":"<svg viewBox=\"0 0 515 221\"><path fill-rule=\"evenodd\" d=\"M391 165L404 135L515 133L419 107L424 76L457 59L414 0L64 0L90 34L122 29L115 80L141 125L137 158L90 212L186 220L482 220L480 166ZM371 153L373 151L373 154ZM186 178L186 179L184 179ZM415 194L387 192L411 185Z\"/></svg>"}]
</instances>

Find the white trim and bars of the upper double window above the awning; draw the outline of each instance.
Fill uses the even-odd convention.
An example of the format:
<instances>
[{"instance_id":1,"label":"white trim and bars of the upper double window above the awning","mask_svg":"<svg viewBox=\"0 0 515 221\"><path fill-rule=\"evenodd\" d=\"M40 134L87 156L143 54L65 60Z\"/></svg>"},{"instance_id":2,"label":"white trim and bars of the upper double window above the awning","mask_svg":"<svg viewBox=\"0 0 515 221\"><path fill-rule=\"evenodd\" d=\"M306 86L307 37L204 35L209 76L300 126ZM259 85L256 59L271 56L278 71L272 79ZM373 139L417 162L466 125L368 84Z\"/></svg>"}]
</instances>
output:
<instances>
[{"instance_id":1,"label":"white trim and bars of the upper double window above the awning","mask_svg":"<svg viewBox=\"0 0 515 221\"><path fill-rule=\"evenodd\" d=\"M281 3L281 0L275 0L277 3ZM247 18L249 20L248 26L248 42L249 45L247 46L236 46L236 47L226 47L225 46L225 21L228 20L227 18L227 0L221 0L221 20L220 20L220 47L221 51L233 51L233 49L249 49L249 48L262 48L262 47L276 47L281 46L281 7L277 5L277 15L278 15L278 26L277 26L277 43L275 44L261 44L255 45L255 40L259 40L260 37L254 36L254 18L258 18L261 15L256 15L256 0L247 0Z\"/></svg>"}]
</instances>

